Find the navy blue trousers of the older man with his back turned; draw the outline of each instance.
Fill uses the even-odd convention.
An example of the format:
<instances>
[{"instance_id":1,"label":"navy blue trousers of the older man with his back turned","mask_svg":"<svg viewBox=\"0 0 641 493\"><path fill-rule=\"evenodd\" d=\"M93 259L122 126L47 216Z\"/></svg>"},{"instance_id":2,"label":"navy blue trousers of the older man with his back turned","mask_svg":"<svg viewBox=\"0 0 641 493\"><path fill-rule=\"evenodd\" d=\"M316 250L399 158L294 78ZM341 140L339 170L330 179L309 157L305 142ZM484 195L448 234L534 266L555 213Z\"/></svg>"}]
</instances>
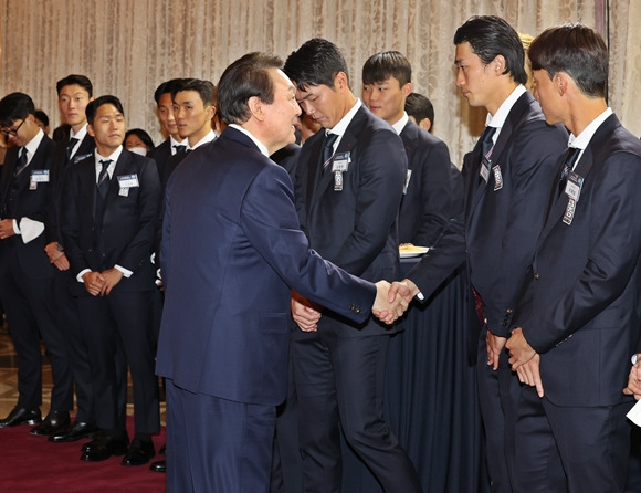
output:
<instances>
[{"instance_id":1,"label":"navy blue trousers of the older man with his back turned","mask_svg":"<svg viewBox=\"0 0 641 493\"><path fill-rule=\"evenodd\" d=\"M167 492L266 493L274 406L193 394L167 382Z\"/></svg>"}]
</instances>

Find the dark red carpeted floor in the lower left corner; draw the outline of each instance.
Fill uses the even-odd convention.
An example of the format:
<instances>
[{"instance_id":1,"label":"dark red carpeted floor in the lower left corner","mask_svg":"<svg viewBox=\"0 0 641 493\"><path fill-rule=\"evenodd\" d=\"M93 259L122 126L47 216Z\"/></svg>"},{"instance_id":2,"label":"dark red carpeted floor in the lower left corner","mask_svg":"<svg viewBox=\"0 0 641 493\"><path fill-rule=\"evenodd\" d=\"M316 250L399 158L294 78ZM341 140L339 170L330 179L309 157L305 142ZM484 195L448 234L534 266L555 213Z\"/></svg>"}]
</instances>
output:
<instances>
[{"instance_id":1,"label":"dark red carpeted floor in the lower left corner","mask_svg":"<svg viewBox=\"0 0 641 493\"><path fill-rule=\"evenodd\" d=\"M129 436L133 419L127 418ZM149 471L148 465L125 468L122 457L103 462L80 460L81 447L87 440L52 443L29 433L31 427L0 430L0 492L2 493L156 493L165 492L165 474ZM165 443L165 429L154 437L156 458Z\"/></svg>"}]
</instances>

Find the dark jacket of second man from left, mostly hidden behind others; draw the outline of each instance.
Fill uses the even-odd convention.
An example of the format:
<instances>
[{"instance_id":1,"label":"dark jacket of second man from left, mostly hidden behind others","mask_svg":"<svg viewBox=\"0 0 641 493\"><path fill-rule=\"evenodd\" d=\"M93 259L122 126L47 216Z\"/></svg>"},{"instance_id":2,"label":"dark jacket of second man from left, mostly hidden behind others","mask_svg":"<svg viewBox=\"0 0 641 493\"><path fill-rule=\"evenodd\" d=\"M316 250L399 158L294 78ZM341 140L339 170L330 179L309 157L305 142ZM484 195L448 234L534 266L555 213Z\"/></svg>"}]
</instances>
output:
<instances>
[{"instance_id":1,"label":"dark jacket of second man from left, mostly hidden behind others","mask_svg":"<svg viewBox=\"0 0 641 493\"><path fill-rule=\"evenodd\" d=\"M55 153L53 158L53 203L48 213L46 243L56 241L64 246L62 240L62 231L60 229L61 213L62 213L62 188L64 177L70 168L70 164L81 161L88 156L93 156L96 144L90 134L85 134L80 143L80 146L73 155L71 161L66 159L66 148L69 146L70 135L66 139L61 140L55 145Z\"/></svg>"}]
</instances>

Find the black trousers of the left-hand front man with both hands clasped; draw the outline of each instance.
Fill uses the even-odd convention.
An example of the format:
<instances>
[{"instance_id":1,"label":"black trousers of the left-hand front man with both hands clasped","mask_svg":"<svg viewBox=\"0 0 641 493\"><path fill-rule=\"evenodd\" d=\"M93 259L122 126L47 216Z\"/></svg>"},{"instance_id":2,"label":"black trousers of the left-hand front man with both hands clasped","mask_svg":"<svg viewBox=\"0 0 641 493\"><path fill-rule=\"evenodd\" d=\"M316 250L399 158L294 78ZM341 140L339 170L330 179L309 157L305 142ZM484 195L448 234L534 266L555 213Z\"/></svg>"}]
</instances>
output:
<instances>
[{"instance_id":1,"label":"black trousers of the left-hand front man with both hands clasped","mask_svg":"<svg viewBox=\"0 0 641 493\"><path fill-rule=\"evenodd\" d=\"M112 291L108 296L78 297L94 385L96 424L101 429L126 429L128 365L136 432L160 431L150 296L147 291Z\"/></svg>"}]
</instances>

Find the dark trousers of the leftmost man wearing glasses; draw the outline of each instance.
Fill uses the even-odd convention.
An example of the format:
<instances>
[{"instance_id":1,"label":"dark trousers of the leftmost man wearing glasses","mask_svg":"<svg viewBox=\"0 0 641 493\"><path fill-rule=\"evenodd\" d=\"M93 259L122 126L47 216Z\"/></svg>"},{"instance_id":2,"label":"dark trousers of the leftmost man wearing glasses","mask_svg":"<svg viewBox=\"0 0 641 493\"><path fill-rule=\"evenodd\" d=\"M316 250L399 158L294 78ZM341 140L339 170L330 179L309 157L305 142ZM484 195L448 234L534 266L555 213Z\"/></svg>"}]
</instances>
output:
<instances>
[{"instance_id":1,"label":"dark trousers of the leftmost man wearing glasses","mask_svg":"<svg viewBox=\"0 0 641 493\"><path fill-rule=\"evenodd\" d=\"M20 265L12 258L0 280L0 297L18 356L18 406L38 409L42 403L42 336L51 360L51 409L69 411L73 408L73 387L64 336L55 316L52 277L29 277Z\"/></svg>"}]
</instances>

